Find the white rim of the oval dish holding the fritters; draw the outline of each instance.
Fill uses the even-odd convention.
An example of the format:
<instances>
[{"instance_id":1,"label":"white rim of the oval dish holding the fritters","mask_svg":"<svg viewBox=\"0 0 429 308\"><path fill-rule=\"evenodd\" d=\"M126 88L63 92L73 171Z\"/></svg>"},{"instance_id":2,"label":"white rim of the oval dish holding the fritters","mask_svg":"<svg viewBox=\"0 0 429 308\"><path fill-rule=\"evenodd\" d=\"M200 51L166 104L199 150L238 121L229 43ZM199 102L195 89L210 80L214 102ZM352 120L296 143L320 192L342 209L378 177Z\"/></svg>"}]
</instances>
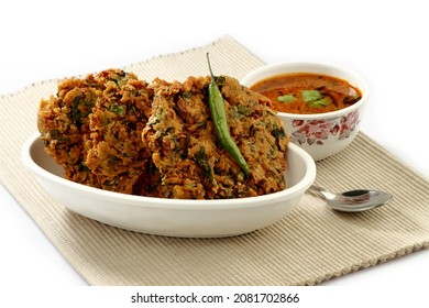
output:
<instances>
[{"instance_id":1,"label":"white rim of the oval dish holding the fritters","mask_svg":"<svg viewBox=\"0 0 429 308\"><path fill-rule=\"evenodd\" d=\"M81 194L90 196L91 198L97 198L99 200L109 200L109 202L117 202L133 207L176 210L234 210L241 208L263 207L273 202L280 201L282 199L284 199L285 196L288 197L287 199L292 199L298 195L304 194L316 179L315 161L306 151L293 143L289 143L288 151L295 152L304 160L307 172L297 184L292 187L287 187L282 191L249 198L216 200L169 199L135 196L86 186L50 173L48 170L41 167L32 157L32 151L37 145L37 142L42 142L42 140L40 139L40 133L36 133L29 138L21 148L22 163L34 175L42 177L45 180L56 182L57 184L64 185L67 189L80 191Z\"/></svg>"}]
</instances>

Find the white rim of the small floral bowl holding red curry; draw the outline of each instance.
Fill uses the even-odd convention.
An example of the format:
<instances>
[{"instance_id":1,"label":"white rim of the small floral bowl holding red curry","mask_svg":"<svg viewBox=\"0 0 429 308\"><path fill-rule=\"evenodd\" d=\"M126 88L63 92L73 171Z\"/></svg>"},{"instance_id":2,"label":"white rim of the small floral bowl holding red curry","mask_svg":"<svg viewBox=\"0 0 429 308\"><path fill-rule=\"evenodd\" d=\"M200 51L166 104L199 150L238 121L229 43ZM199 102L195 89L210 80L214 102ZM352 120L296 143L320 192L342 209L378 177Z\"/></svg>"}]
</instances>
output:
<instances>
[{"instance_id":1,"label":"white rim of the small floral bowl holding red curry","mask_svg":"<svg viewBox=\"0 0 429 308\"><path fill-rule=\"evenodd\" d=\"M321 68L321 69L330 69L330 70L337 70L337 72L342 72L346 75L353 76L353 79L359 80L359 86L355 85L355 82L352 82L350 80L344 79L345 81L349 81L353 86L358 87L362 91L362 98L353 103L352 106L349 106L346 108L336 110L336 111L330 111L330 112L323 112L323 113L311 113L311 114L305 114L305 113L289 113L289 112L282 112L282 111L276 111L277 116L284 117L284 118L290 118L290 119L301 119L301 120L318 120L318 119L333 119L341 117L343 114L346 114L349 112L352 112L359 108L361 108L363 105L369 99L369 82L366 79L359 73L346 68L341 65L332 64L332 63L327 63L327 62L282 62L282 63L275 63L275 64L268 64L268 65L263 65L254 70L250 72L248 75L245 75L241 80L240 84L244 85L246 87L251 87L255 82L258 82L263 79L270 78L270 77L275 77L293 72L286 72L286 73L276 73L276 74L271 74L265 77L256 78L258 75L264 75L266 73L270 73L271 70L278 70L282 68L289 68L289 67L315 67L315 68ZM306 72L306 69L302 70L297 70L294 73L312 73L312 72ZM320 73L330 76L331 74L329 73ZM256 81L252 81L252 84L249 82L249 80L256 79Z\"/></svg>"}]
</instances>

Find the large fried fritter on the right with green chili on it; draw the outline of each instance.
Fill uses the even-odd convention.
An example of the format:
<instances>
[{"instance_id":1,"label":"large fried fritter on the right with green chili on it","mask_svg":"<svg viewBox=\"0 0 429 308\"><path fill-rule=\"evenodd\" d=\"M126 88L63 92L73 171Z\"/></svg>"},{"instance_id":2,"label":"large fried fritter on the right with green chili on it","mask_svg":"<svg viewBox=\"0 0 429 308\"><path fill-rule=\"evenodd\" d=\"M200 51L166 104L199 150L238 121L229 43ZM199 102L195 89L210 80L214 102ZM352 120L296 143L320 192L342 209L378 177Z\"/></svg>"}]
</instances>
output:
<instances>
[{"instance_id":1,"label":"large fried fritter on the right with green chili on it","mask_svg":"<svg viewBox=\"0 0 429 308\"><path fill-rule=\"evenodd\" d=\"M184 84L152 85L152 116L142 140L160 172L164 197L239 198L284 189L289 140L270 101L234 78L217 77L231 136L251 169L246 179L218 144L208 107L209 81L209 77L189 77Z\"/></svg>"}]
</instances>

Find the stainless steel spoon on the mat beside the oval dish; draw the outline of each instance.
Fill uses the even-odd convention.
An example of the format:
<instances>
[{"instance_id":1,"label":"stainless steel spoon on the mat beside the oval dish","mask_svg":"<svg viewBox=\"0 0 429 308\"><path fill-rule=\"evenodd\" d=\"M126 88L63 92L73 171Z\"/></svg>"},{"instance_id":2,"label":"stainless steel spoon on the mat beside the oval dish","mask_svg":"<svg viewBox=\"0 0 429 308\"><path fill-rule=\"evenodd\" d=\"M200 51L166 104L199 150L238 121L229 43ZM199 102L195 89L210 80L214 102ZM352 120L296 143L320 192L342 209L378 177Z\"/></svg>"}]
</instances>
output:
<instances>
[{"instance_id":1,"label":"stainless steel spoon on the mat beside the oval dish","mask_svg":"<svg viewBox=\"0 0 429 308\"><path fill-rule=\"evenodd\" d=\"M386 205L393 198L391 194L380 190L356 189L333 194L317 185L311 185L309 189L322 196L331 209L346 212L371 210Z\"/></svg>"}]
</instances>

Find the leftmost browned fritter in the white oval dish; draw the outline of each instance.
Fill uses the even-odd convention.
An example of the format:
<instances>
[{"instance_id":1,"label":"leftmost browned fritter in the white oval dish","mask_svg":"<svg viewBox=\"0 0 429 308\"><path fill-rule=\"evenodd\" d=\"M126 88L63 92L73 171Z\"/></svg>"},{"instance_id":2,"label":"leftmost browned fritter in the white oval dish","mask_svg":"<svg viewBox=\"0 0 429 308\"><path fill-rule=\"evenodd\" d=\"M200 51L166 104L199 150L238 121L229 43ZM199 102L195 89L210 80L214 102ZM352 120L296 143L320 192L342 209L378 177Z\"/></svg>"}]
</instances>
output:
<instances>
[{"instance_id":1,"label":"leftmost browned fritter in the white oval dish","mask_svg":"<svg viewBox=\"0 0 429 308\"><path fill-rule=\"evenodd\" d=\"M96 102L97 91L88 79L64 80L56 96L41 101L37 128L46 153L63 166L67 179L98 187L97 177L85 164L86 153L92 146L89 114Z\"/></svg>"}]
</instances>

